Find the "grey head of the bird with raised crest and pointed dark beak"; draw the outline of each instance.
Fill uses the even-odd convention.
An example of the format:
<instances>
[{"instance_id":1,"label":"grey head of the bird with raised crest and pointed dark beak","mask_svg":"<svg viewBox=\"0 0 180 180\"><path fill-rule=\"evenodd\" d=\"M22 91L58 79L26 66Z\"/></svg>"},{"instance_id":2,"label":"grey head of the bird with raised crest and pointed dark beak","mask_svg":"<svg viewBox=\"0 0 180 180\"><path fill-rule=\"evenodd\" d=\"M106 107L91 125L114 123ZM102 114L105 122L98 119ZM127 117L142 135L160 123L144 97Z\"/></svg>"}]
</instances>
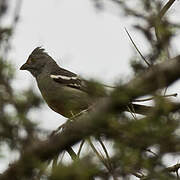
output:
<instances>
[{"instance_id":1,"label":"grey head of the bird with raised crest and pointed dark beak","mask_svg":"<svg viewBox=\"0 0 180 180\"><path fill-rule=\"evenodd\" d=\"M35 48L29 55L27 61L20 67L20 70L27 70L33 76L38 76L43 68L55 61L41 47Z\"/></svg>"}]
</instances>

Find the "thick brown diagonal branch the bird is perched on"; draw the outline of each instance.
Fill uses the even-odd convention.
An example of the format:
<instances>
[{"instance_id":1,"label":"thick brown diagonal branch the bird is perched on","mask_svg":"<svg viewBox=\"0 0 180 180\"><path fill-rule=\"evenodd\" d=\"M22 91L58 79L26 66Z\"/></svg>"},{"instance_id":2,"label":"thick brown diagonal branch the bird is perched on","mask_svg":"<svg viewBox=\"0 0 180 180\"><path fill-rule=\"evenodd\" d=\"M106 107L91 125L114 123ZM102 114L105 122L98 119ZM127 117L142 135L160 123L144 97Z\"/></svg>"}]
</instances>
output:
<instances>
[{"instance_id":1,"label":"thick brown diagonal branch the bird is perched on","mask_svg":"<svg viewBox=\"0 0 180 180\"><path fill-rule=\"evenodd\" d=\"M109 128L109 119L112 117L112 113L119 114L131 100L172 84L180 77L179 67L180 56L177 56L155 65L147 73L117 87L109 98L100 100L95 109L69 123L61 134L29 145L20 159L10 165L0 176L0 180L19 180L19 177L31 178L33 170L37 166L37 160L49 160L80 140L103 132L104 129Z\"/></svg>"}]
</instances>

